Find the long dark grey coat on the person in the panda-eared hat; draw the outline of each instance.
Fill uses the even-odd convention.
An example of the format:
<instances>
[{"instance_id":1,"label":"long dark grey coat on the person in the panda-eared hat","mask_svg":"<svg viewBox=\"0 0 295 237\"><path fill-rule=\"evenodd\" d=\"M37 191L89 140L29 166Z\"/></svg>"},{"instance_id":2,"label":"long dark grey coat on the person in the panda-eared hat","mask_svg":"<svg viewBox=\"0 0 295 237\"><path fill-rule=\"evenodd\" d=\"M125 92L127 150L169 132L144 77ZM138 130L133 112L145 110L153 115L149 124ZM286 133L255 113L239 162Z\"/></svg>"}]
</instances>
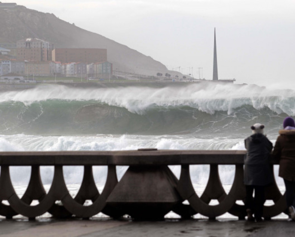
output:
<instances>
[{"instance_id":1,"label":"long dark grey coat on the person in the panda-eared hat","mask_svg":"<svg viewBox=\"0 0 295 237\"><path fill-rule=\"evenodd\" d=\"M245 185L264 186L273 182L269 164L272 147L272 143L263 134L253 134L245 139Z\"/></svg>"}]
</instances>

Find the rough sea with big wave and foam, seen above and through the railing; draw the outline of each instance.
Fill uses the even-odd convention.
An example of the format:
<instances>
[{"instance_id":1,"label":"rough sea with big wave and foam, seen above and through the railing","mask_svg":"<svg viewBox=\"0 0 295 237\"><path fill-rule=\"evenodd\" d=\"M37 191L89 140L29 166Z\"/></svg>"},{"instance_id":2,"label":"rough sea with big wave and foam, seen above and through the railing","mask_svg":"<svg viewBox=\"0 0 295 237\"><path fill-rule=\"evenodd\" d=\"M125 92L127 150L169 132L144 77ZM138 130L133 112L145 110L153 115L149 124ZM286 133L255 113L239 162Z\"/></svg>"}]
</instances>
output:
<instances>
[{"instance_id":1,"label":"rough sea with big wave and foam, seen above and through the railing","mask_svg":"<svg viewBox=\"0 0 295 237\"><path fill-rule=\"evenodd\" d=\"M257 85L40 85L0 92L0 151L242 150L251 125L263 123L274 143L286 116L295 116L295 91ZM117 167L118 178L126 168ZM25 190L30 168L10 169L16 189ZM180 167L171 169L179 176ZM193 183L202 190L209 167L190 169ZM230 186L234 167L220 166L219 172ZM275 173L283 192L277 166ZM64 167L64 176L78 190L83 168ZM106 167L94 167L94 176L102 186ZM50 185L53 167L41 167L41 177Z\"/></svg>"}]
</instances>

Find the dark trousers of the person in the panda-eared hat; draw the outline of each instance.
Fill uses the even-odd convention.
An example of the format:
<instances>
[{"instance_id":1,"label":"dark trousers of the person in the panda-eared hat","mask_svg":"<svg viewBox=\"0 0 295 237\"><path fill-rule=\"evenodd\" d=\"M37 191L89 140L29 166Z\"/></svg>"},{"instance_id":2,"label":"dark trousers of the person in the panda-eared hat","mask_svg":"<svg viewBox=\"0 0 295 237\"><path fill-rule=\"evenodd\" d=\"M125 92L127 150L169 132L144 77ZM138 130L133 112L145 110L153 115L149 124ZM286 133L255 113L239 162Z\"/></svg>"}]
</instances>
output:
<instances>
[{"instance_id":1,"label":"dark trousers of the person in the panda-eared hat","mask_svg":"<svg viewBox=\"0 0 295 237\"><path fill-rule=\"evenodd\" d=\"M246 209L251 209L255 218L262 217L264 199L264 187L258 185L245 185L246 186ZM254 198L253 191L255 190Z\"/></svg>"}]
</instances>

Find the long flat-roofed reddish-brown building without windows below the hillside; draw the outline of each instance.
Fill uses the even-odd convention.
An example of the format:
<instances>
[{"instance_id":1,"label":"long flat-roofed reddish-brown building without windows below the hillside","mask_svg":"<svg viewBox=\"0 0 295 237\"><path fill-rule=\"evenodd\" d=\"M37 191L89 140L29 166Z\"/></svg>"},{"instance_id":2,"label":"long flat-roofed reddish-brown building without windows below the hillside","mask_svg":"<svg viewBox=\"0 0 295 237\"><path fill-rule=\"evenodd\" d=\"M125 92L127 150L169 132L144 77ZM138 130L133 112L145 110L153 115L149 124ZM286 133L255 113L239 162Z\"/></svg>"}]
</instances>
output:
<instances>
[{"instance_id":1,"label":"long flat-roofed reddish-brown building without windows below the hillside","mask_svg":"<svg viewBox=\"0 0 295 237\"><path fill-rule=\"evenodd\" d=\"M61 63L94 63L107 61L106 49L53 49L52 60Z\"/></svg>"}]
</instances>

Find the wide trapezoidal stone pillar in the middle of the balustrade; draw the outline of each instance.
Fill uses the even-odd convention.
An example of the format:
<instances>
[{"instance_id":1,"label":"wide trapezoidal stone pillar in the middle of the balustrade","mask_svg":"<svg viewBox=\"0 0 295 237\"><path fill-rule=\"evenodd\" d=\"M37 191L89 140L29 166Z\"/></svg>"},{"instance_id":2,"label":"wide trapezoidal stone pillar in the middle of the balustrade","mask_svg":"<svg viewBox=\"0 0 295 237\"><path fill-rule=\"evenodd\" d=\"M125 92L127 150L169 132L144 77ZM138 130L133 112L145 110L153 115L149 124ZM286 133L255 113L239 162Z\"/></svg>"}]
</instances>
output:
<instances>
[{"instance_id":1,"label":"wide trapezoidal stone pillar in the middle of the balustrade","mask_svg":"<svg viewBox=\"0 0 295 237\"><path fill-rule=\"evenodd\" d=\"M106 203L140 220L163 219L183 200L167 166L131 166Z\"/></svg>"}]
</instances>

